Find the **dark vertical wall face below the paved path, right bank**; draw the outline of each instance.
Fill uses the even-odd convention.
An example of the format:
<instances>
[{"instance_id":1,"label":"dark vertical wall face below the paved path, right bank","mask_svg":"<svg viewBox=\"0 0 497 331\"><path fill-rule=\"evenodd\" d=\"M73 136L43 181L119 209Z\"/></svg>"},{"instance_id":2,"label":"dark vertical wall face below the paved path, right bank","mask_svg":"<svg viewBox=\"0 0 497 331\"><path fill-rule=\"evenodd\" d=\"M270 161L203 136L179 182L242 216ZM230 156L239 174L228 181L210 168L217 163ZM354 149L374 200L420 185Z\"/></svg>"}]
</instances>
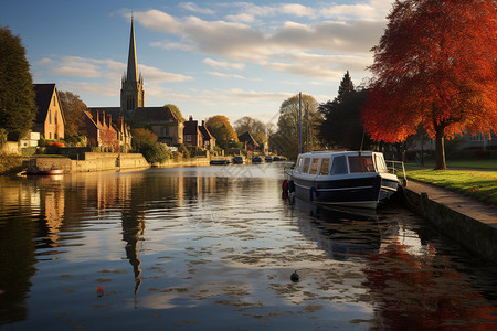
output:
<instances>
[{"instance_id":1,"label":"dark vertical wall face below the paved path, right bank","mask_svg":"<svg viewBox=\"0 0 497 331\"><path fill-rule=\"evenodd\" d=\"M431 200L429 194L402 188L399 197L404 204L433 223L445 235L463 244L467 249L497 265L497 226L459 213L450 206Z\"/></svg>"}]
</instances>

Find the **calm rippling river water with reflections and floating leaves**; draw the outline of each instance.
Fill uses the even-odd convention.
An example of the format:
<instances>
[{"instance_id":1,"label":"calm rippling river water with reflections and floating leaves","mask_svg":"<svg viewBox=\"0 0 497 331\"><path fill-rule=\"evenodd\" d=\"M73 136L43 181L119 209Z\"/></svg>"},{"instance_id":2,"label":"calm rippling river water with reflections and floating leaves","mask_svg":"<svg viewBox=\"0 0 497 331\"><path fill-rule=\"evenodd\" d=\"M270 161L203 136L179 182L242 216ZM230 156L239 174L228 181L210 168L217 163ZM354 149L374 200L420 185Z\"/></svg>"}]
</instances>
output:
<instances>
[{"instance_id":1,"label":"calm rippling river water with reflections and floating leaves","mask_svg":"<svg viewBox=\"0 0 497 331\"><path fill-rule=\"evenodd\" d=\"M0 329L497 329L495 267L394 204L290 204L283 167L0 178Z\"/></svg>"}]
</instances>

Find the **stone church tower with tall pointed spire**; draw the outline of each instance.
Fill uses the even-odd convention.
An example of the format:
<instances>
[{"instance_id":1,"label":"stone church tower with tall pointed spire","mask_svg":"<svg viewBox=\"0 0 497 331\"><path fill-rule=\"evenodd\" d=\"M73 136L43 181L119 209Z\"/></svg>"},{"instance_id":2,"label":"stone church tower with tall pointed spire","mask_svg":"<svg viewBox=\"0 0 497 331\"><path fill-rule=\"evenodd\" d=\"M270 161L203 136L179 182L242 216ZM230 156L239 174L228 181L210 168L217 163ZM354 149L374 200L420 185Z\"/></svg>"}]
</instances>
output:
<instances>
[{"instance_id":1,"label":"stone church tower with tall pointed spire","mask_svg":"<svg viewBox=\"0 0 497 331\"><path fill-rule=\"evenodd\" d=\"M131 35L129 38L128 68L121 79L120 108L123 110L134 110L144 107L145 92L144 78L138 76L135 46L135 26L131 17Z\"/></svg>"}]
</instances>

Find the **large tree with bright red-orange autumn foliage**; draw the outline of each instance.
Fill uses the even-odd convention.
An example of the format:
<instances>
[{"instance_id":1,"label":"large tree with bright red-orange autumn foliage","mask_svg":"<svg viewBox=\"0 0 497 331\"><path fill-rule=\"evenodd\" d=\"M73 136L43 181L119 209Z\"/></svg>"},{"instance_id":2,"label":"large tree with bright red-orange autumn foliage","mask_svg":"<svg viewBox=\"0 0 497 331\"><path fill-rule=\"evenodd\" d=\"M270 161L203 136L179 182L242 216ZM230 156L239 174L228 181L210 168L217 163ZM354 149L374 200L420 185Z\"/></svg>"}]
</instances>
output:
<instances>
[{"instance_id":1,"label":"large tree with bright red-orange autumn foliage","mask_svg":"<svg viewBox=\"0 0 497 331\"><path fill-rule=\"evenodd\" d=\"M421 124L445 169L444 138L497 132L497 6L494 0L396 0L362 109L376 140L403 141Z\"/></svg>"}]
</instances>

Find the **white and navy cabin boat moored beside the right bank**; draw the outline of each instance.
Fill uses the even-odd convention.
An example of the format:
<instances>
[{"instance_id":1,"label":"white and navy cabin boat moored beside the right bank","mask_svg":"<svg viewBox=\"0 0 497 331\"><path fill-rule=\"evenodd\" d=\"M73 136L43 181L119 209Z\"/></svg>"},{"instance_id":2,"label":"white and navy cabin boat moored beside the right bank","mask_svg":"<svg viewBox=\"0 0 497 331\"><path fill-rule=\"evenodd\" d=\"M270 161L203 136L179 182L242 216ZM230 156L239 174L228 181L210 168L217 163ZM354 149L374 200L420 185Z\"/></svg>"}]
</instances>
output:
<instances>
[{"instance_id":1,"label":"white and navy cabin boat moored beside the right bank","mask_svg":"<svg viewBox=\"0 0 497 331\"><path fill-rule=\"evenodd\" d=\"M376 209L396 192L383 154L371 151L315 151L299 154L286 170L290 193L325 205Z\"/></svg>"}]
</instances>

